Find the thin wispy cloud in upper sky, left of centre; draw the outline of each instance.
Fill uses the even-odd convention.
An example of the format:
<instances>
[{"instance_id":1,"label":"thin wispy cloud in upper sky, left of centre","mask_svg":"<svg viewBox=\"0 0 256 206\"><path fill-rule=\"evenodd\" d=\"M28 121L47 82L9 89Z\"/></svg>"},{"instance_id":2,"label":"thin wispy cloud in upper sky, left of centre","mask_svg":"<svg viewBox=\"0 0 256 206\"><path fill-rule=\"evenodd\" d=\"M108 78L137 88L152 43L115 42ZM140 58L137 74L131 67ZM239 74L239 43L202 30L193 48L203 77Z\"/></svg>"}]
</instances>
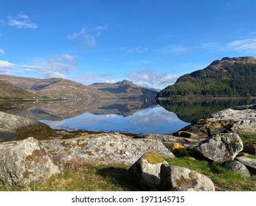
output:
<instances>
[{"instance_id":1,"label":"thin wispy cloud in upper sky, left of centre","mask_svg":"<svg viewBox=\"0 0 256 206\"><path fill-rule=\"evenodd\" d=\"M89 29L88 31L83 27L80 32L74 32L68 35L69 40L82 38L83 43L87 47L95 47L97 45L96 38L101 35L101 31L108 29L108 24L104 26L97 26L96 28Z\"/></svg>"}]
</instances>

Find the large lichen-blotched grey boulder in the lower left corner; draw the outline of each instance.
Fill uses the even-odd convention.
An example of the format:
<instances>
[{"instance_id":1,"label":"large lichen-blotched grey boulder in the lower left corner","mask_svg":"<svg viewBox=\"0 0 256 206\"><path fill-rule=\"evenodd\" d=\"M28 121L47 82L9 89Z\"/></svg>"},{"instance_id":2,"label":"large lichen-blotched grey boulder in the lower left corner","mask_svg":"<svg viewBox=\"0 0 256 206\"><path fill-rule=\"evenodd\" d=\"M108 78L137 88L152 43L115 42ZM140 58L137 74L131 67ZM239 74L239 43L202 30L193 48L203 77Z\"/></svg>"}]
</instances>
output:
<instances>
[{"instance_id":1,"label":"large lichen-blotched grey boulder in the lower left corner","mask_svg":"<svg viewBox=\"0 0 256 206\"><path fill-rule=\"evenodd\" d=\"M27 185L60 174L61 168L35 138L0 143L0 185Z\"/></svg>"}]
</instances>

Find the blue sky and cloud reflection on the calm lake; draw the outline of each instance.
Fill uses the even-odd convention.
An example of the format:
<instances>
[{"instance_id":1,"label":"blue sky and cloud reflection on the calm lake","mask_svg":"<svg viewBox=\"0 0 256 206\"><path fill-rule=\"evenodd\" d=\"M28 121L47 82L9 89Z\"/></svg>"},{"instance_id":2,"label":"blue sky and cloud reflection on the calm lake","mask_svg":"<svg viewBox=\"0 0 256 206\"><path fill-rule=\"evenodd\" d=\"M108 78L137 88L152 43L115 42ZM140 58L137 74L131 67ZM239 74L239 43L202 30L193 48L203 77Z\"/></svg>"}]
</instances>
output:
<instances>
[{"instance_id":1,"label":"blue sky and cloud reflection on the calm lake","mask_svg":"<svg viewBox=\"0 0 256 206\"><path fill-rule=\"evenodd\" d=\"M86 129L91 131L127 132L136 134L170 134L177 128L187 126L180 121L175 113L170 113L162 107L140 110L131 116L124 117L115 114L94 115L83 113L65 121L42 121L55 129Z\"/></svg>"}]
</instances>

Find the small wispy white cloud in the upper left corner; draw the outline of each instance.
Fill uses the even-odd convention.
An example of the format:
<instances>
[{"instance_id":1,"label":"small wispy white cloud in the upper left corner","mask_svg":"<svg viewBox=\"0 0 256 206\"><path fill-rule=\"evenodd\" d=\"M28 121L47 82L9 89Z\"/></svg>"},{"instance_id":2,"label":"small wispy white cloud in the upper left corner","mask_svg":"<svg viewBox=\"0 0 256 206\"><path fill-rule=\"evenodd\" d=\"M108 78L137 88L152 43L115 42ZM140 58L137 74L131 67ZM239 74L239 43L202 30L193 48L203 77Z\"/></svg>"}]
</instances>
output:
<instances>
[{"instance_id":1,"label":"small wispy white cloud in the upper left corner","mask_svg":"<svg viewBox=\"0 0 256 206\"><path fill-rule=\"evenodd\" d=\"M38 25L33 23L28 15L25 15L24 13L19 13L15 18L13 16L8 15L7 16L8 25L9 26L15 26L19 29L25 28L25 29L36 29L38 28Z\"/></svg>"}]
</instances>

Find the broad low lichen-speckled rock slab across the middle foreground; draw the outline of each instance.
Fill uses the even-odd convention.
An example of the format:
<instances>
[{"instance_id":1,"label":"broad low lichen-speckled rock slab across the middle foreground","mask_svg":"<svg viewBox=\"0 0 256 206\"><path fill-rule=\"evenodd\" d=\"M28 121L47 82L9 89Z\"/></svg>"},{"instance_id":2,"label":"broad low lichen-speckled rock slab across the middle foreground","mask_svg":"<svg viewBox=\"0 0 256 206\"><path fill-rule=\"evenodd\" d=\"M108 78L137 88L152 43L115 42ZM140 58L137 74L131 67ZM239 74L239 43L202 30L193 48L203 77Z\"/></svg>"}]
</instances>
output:
<instances>
[{"instance_id":1,"label":"broad low lichen-speckled rock slab across the middle foreground","mask_svg":"<svg viewBox=\"0 0 256 206\"><path fill-rule=\"evenodd\" d=\"M118 163L131 166L148 151L156 151L162 157L174 157L161 141L133 139L117 133L94 135L84 133L79 138L42 141L42 143L63 161L80 158L101 164Z\"/></svg>"}]
</instances>

